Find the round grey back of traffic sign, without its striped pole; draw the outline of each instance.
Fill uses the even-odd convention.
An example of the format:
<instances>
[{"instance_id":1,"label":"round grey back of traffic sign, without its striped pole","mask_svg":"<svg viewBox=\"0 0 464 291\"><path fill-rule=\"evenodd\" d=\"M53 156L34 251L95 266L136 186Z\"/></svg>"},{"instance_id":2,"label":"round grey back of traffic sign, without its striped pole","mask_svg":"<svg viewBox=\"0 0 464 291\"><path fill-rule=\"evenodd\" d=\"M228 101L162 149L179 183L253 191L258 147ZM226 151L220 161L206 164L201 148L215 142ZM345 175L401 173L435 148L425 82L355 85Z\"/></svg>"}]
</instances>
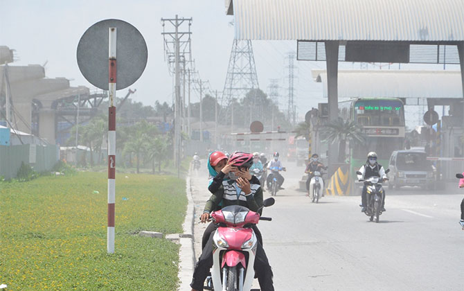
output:
<instances>
[{"instance_id":1,"label":"round grey back of traffic sign, without its striped pole","mask_svg":"<svg viewBox=\"0 0 464 291\"><path fill-rule=\"evenodd\" d=\"M116 27L116 90L119 90L134 84L147 64L147 44L137 28L119 19L98 21L82 35L76 54L84 78L107 90L110 27Z\"/></svg>"}]
</instances>

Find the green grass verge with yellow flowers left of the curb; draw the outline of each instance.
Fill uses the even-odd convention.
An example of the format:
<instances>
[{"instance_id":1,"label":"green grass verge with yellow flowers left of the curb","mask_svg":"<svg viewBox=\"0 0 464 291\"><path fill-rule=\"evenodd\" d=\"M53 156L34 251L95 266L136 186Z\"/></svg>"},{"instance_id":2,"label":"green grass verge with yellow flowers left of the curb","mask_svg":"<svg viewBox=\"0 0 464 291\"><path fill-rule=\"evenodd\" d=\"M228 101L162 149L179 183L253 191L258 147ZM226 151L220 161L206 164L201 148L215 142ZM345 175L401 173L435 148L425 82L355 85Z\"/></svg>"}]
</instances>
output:
<instances>
[{"instance_id":1,"label":"green grass verge with yellow flowers left of the curb","mask_svg":"<svg viewBox=\"0 0 464 291\"><path fill-rule=\"evenodd\" d=\"M134 233L180 233L186 204L184 180L117 175L116 252L108 255L106 173L3 182L0 284L7 290L176 290L178 245Z\"/></svg>"}]
</instances>

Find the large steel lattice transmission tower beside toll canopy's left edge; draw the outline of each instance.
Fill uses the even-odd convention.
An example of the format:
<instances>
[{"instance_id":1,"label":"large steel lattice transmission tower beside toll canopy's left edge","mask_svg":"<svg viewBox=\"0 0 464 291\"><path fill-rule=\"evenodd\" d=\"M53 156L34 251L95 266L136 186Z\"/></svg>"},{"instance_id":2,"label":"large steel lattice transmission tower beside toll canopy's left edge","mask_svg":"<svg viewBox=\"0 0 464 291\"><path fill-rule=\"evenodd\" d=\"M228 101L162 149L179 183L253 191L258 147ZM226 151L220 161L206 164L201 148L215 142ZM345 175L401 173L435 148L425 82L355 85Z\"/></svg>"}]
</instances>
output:
<instances>
[{"instance_id":1,"label":"large steel lattice transmission tower beside toll canopy's left edge","mask_svg":"<svg viewBox=\"0 0 464 291\"><path fill-rule=\"evenodd\" d=\"M221 107L227 105L231 110L228 117L231 118L231 132L233 132L233 102L244 98L252 90L255 92L251 100L251 112L253 108L259 106L256 102L256 89L259 88L258 76L256 74L255 58L251 40L233 39L229 68L227 69L226 82L222 91ZM244 118L246 122L246 118Z\"/></svg>"}]
</instances>

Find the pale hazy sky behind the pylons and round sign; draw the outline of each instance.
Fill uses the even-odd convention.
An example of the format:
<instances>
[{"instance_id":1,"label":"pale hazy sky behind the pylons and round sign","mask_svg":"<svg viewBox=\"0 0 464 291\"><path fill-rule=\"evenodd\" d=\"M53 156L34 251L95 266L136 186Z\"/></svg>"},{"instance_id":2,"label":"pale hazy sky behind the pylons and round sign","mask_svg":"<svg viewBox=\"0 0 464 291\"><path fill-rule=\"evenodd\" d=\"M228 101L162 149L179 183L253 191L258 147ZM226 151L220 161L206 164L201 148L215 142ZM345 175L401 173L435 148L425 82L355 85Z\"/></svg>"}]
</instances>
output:
<instances>
[{"instance_id":1,"label":"pale hazy sky behind the pylons and round sign","mask_svg":"<svg viewBox=\"0 0 464 291\"><path fill-rule=\"evenodd\" d=\"M193 17L192 51L196 67L211 89L222 91L233 42L233 17L225 15L224 0L0 0L0 45L16 50L15 64L46 64L48 78L71 79L72 86L86 85L75 59L80 37L89 26L102 19L116 18L130 22L140 30L148 45L148 64L141 78L130 88L136 101L153 105L155 100L172 103L172 76L164 60L161 18ZM286 56L296 51L296 41L253 41L258 82L267 91L269 79L280 82L280 108L287 108ZM311 69L325 69L325 62L295 62L296 105L298 115L322 98L322 85L312 80ZM13 64L14 65L14 64ZM339 63L342 68L359 68L359 64ZM414 65L409 65L411 67ZM415 69L440 69L427 66ZM375 66L371 66L375 69ZM402 65L402 68L407 66ZM451 68L450 68L451 69ZM458 69L458 68L456 68ZM125 96L127 89L118 91ZM193 102L199 100L193 95Z\"/></svg>"}]
</instances>

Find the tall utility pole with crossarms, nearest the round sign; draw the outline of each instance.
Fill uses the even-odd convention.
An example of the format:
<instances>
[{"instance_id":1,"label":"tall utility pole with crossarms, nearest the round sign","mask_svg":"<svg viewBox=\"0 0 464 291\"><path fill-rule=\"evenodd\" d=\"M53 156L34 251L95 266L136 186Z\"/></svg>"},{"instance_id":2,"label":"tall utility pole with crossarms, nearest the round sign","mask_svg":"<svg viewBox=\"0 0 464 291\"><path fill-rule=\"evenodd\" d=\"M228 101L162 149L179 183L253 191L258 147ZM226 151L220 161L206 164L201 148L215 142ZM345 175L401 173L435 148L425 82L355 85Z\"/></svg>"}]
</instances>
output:
<instances>
[{"instance_id":1,"label":"tall utility pole with crossarms, nearest the round sign","mask_svg":"<svg viewBox=\"0 0 464 291\"><path fill-rule=\"evenodd\" d=\"M186 62L186 55L190 57L190 26L192 24L192 18L179 18L177 15L174 19L163 19L161 18L162 26L163 26L163 33L161 33L164 37L164 50L166 52L166 56L168 58L168 63L174 63L174 75L175 75L175 114L174 114L174 161L177 165L177 176L180 176L180 161L181 161L181 124L184 123L182 119L181 109L182 102L181 102L181 88L180 88L180 58L181 54L184 58L184 66ZM165 24L166 22L172 24L174 26L173 32L166 32ZM188 23L188 30L186 31L179 31L179 27L184 24ZM182 50L182 52L181 52ZM174 52L172 52L174 51ZM185 67L184 67L185 68ZM185 71L185 69L184 69ZM185 79L185 78L184 78Z\"/></svg>"}]
</instances>

